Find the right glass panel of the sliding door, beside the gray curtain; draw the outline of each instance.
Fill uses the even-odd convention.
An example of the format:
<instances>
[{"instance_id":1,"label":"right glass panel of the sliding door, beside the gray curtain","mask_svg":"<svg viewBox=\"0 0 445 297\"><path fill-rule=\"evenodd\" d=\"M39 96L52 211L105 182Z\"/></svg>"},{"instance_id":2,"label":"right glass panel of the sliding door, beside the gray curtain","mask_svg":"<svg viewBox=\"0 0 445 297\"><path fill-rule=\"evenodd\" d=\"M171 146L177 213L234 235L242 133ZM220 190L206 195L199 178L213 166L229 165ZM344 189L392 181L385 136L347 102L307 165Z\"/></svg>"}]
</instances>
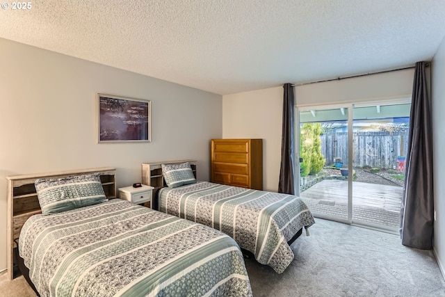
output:
<instances>
[{"instance_id":1,"label":"right glass panel of the sliding door, beside the gray curtain","mask_svg":"<svg viewBox=\"0 0 445 297\"><path fill-rule=\"evenodd\" d=\"M353 222L398 232L410 103L353 107Z\"/></svg>"}]
</instances>

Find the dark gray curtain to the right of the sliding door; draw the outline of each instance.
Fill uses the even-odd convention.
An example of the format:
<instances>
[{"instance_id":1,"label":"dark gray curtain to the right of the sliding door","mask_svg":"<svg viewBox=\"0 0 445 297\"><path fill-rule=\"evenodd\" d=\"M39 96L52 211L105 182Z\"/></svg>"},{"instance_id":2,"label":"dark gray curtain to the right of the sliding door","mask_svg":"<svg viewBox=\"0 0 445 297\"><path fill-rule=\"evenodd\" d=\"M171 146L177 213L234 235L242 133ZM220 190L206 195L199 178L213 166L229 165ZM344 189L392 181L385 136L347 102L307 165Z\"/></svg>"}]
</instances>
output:
<instances>
[{"instance_id":1,"label":"dark gray curtain to the right of the sliding door","mask_svg":"<svg viewBox=\"0 0 445 297\"><path fill-rule=\"evenodd\" d=\"M432 249L432 135L425 63L417 62L412 88L410 136L401 204L401 238L404 246Z\"/></svg>"}]
</instances>

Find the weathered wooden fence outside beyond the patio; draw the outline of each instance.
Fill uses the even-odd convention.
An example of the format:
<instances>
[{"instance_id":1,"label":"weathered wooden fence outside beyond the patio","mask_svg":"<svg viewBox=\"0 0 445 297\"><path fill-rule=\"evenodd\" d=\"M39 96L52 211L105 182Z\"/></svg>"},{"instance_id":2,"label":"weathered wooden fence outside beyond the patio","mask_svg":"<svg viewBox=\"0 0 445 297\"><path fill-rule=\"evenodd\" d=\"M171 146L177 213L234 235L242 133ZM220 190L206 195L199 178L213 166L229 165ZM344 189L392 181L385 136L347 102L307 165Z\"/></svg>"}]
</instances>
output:
<instances>
[{"instance_id":1,"label":"weathered wooden fence outside beyond the patio","mask_svg":"<svg viewBox=\"0 0 445 297\"><path fill-rule=\"evenodd\" d=\"M353 132L353 166L390 169L396 168L398 156L405 156L408 131L355 131ZM348 166L348 133L335 132L321 136L321 153L325 166L340 158Z\"/></svg>"}]
</instances>

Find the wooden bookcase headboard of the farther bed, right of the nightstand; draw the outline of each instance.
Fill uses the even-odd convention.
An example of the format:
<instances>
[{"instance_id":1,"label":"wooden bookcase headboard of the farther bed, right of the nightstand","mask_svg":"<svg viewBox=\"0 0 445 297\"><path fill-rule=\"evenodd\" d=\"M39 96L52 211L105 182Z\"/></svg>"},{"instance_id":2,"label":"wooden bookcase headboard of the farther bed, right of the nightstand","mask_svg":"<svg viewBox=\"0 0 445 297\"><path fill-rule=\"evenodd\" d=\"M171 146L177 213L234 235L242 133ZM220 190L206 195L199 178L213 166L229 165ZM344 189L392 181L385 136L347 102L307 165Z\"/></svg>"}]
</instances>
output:
<instances>
[{"instance_id":1,"label":"wooden bookcase headboard of the farther bed, right of the nightstand","mask_svg":"<svg viewBox=\"0 0 445 297\"><path fill-rule=\"evenodd\" d=\"M196 160L178 160L178 161L162 161L152 163L142 163L142 184L154 187L153 189L153 208L158 209L158 191L160 188L167 186L162 176L162 164L180 164L188 162L196 178Z\"/></svg>"}]
</instances>

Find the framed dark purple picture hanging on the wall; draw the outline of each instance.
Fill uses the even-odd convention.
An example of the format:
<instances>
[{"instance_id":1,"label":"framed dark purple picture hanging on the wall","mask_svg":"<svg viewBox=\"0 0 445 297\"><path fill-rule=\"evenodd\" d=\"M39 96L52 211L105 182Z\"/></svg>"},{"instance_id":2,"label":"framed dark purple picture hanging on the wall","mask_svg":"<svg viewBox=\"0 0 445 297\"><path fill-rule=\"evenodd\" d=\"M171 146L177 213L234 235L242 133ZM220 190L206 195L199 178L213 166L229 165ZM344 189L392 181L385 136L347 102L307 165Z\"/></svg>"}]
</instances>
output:
<instances>
[{"instance_id":1,"label":"framed dark purple picture hanging on the wall","mask_svg":"<svg viewBox=\"0 0 445 297\"><path fill-rule=\"evenodd\" d=\"M97 142L152 141L152 102L97 93Z\"/></svg>"}]
</instances>

